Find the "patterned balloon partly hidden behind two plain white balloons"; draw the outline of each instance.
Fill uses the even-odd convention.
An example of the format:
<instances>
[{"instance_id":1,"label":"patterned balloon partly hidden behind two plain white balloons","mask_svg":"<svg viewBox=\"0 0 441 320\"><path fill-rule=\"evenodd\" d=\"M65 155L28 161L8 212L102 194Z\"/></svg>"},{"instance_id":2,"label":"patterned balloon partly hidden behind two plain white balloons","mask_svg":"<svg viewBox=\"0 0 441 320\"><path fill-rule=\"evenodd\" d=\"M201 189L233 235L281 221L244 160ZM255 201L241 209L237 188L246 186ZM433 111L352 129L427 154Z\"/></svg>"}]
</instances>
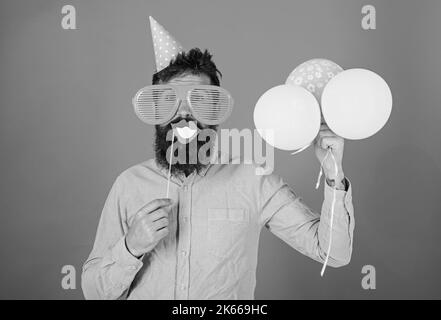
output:
<instances>
[{"instance_id":1,"label":"patterned balloon partly hidden behind two plain white balloons","mask_svg":"<svg viewBox=\"0 0 441 320\"><path fill-rule=\"evenodd\" d=\"M326 84L343 71L335 62L326 59L306 61L290 73L286 84L301 86L311 92L320 103Z\"/></svg>"}]
</instances>

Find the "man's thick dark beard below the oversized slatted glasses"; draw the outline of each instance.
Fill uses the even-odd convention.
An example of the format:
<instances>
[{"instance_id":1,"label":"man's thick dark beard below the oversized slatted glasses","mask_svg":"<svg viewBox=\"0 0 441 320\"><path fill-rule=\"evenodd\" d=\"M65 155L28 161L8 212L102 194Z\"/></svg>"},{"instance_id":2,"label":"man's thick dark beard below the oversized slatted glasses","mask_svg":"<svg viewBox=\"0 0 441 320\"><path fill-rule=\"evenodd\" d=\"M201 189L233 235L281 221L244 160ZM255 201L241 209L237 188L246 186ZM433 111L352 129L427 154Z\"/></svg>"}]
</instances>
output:
<instances>
[{"instance_id":1,"label":"man's thick dark beard below the oversized slatted glasses","mask_svg":"<svg viewBox=\"0 0 441 320\"><path fill-rule=\"evenodd\" d=\"M172 125L175 123L180 122L181 120L188 121L194 121L198 127L199 130L204 129L211 129L211 130L217 130L216 125L201 125L198 121L191 119L191 118L182 118L178 117L177 119L174 119L172 122L168 123L165 126L156 125L155 130L155 156L157 163L168 170L169 168L169 161L167 151L170 152L169 148L171 146L171 139L167 140L167 134L173 130ZM194 143L196 143L196 150L194 149ZM192 153L197 152L196 155L199 154L199 150L202 146L204 146L206 143L211 143L213 145L214 141L211 141L210 136L207 136L206 139L199 140L199 133L196 135L196 137L193 138L192 141L186 144L182 144L177 140L177 137L174 137L174 153L173 158L176 158L176 152L183 152L185 154L185 161L177 161L176 163L171 165L171 173L173 175L179 175L179 174L185 174L185 176L189 176L193 172L199 173L203 168L205 168L208 164L200 162L199 157L196 156L196 163L192 163L194 161L191 161L192 158L194 158L194 155ZM212 148L210 147L206 155L208 157L211 156ZM193 156L193 157L192 157Z\"/></svg>"}]
</instances>

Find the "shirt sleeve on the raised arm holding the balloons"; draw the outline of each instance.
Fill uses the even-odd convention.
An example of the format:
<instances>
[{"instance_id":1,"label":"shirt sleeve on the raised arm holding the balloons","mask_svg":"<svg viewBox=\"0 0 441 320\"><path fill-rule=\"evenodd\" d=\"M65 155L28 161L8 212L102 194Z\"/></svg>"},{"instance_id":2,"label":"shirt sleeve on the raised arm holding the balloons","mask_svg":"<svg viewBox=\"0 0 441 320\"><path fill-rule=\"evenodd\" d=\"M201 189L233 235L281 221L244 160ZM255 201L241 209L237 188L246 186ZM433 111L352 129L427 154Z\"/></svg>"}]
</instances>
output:
<instances>
[{"instance_id":1,"label":"shirt sleeve on the raised arm holding the balloons","mask_svg":"<svg viewBox=\"0 0 441 320\"><path fill-rule=\"evenodd\" d=\"M328 265L347 265L352 254L354 208L352 186L348 179L346 183L348 188L344 191L336 190L324 182L324 201L320 214L311 210L280 177L267 176L261 183L261 224L294 249L322 263L326 258L332 232ZM331 231L334 195L334 221Z\"/></svg>"}]
</instances>

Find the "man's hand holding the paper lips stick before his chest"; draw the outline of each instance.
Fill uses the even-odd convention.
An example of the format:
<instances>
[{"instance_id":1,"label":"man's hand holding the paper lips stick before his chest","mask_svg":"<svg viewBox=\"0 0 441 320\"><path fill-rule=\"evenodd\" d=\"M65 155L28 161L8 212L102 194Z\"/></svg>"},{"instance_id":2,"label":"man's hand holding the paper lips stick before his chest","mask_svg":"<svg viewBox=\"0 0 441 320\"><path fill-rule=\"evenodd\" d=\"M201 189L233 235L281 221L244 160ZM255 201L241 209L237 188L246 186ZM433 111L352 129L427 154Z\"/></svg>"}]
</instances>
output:
<instances>
[{"instance_id":1,"label":"man's hand holding the paper lips stick before his chest","mask_svg":"<svg viewBox=\"0 0 441 320\"><path fill-rule=\"evenodd\" d=\"M156 199L135 214L126 234L126 246L132 255L142 256L168 235L168 216L172 205L171 199Z\"/></svg>"}]
</instances>

